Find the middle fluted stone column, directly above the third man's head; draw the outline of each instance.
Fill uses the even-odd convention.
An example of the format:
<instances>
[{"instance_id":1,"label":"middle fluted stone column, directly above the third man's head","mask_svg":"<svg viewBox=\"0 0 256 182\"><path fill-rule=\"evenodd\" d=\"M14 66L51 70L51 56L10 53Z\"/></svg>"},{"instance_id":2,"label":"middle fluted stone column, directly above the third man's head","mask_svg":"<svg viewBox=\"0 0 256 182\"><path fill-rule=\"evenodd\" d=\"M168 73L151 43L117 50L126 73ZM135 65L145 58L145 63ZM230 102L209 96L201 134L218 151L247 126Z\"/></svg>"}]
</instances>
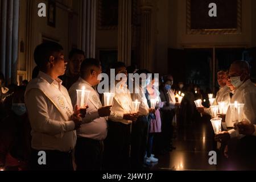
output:
<instances>
[{"instance_id":1,"label":"middle fluted stone column, directly above the third man's head","mask_svg":"<svg viewBox=\"0 0 256 182\"><path fill-rule=\"evenodd\" d=\"M131 0L118 2L118 61L131 64Z\"/></svg>"}]
</instances>

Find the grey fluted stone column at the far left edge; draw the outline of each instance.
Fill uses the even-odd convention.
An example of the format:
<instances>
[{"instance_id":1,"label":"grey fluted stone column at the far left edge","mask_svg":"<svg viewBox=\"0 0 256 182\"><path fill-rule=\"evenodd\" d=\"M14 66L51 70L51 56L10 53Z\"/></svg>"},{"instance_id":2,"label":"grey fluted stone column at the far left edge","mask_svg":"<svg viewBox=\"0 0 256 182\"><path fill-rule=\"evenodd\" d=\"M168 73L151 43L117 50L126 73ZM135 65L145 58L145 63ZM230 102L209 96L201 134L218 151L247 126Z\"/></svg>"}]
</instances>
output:
<instances>
[{"instance_id":1,"label":"grey fluted stone column at the far left edge","mask_svg":"<svg viewBox=\"0 0 256 182\"><path fill-rule=\"evenodd\" d=\"M19 0L1 1L1 64L6 84L16 84L18 60Z\"/></svg>"}]
</instances>

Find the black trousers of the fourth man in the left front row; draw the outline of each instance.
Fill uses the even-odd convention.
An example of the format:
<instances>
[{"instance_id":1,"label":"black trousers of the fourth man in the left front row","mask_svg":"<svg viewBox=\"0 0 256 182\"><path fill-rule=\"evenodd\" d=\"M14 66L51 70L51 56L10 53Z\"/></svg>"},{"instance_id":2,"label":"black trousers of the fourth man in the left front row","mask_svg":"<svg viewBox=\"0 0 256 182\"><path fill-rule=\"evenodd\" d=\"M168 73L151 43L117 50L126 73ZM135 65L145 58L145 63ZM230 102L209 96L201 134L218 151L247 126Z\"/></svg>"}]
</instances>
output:
<instances>
[{"instance_id":1,"label":"black trousers of the fourth man in the left front row","mask_svg":"<svg viewBox=\"0 0 256 182\"><path fill-rule=\"evenodd\" d=\"M143 170L144 156L147 149L149 122L147 117L139 117L131 129L131 168Z\"/></svg>"}]
</instances>

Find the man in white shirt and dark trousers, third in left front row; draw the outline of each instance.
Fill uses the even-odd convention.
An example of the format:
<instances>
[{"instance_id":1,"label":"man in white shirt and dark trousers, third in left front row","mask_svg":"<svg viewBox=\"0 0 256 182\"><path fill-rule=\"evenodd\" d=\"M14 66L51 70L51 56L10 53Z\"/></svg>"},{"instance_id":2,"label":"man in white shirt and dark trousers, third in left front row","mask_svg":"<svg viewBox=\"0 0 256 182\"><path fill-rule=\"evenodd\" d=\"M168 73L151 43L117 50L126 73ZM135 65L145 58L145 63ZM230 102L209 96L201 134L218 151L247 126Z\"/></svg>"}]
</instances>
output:
<instances>
[{"instance_id":1,"label":"man in white shirt and dark trousers, third in left front row","mask_svg":"<svg viewBox=\"0 0 256 182\"><path fill-rule=\"evenodd\" d=\"M117 62L112 69L115 69L115 76L122 73L126 75L126 79L121 78L115 83L119 88L115 88L112 112L108 121L108 136L104 141L104 169L122 171L129 169L131 123L137 121L138 115L131 112L132 100L126 85L125 64Z\"/></svg>"}]
</instances>

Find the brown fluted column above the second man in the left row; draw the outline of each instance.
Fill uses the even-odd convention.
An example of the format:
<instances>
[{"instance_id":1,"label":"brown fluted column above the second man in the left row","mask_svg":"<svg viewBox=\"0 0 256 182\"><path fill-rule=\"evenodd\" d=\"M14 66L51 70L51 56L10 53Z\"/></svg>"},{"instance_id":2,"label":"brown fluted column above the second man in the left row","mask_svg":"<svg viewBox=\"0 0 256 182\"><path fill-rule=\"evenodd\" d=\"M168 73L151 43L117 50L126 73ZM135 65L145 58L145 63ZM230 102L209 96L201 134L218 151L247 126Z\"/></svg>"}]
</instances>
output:
<instances>
[{"instance_id":1,"label":"brown fluted column above the second man in the left row","mask_svg":"<svg viewBox=\"0 0 256 182\"><path fill-rule=\"evenodd\" d=\"M95 58L96 0L82 1L82 50L86 58Z\"/></svg>"}]
</instances>

